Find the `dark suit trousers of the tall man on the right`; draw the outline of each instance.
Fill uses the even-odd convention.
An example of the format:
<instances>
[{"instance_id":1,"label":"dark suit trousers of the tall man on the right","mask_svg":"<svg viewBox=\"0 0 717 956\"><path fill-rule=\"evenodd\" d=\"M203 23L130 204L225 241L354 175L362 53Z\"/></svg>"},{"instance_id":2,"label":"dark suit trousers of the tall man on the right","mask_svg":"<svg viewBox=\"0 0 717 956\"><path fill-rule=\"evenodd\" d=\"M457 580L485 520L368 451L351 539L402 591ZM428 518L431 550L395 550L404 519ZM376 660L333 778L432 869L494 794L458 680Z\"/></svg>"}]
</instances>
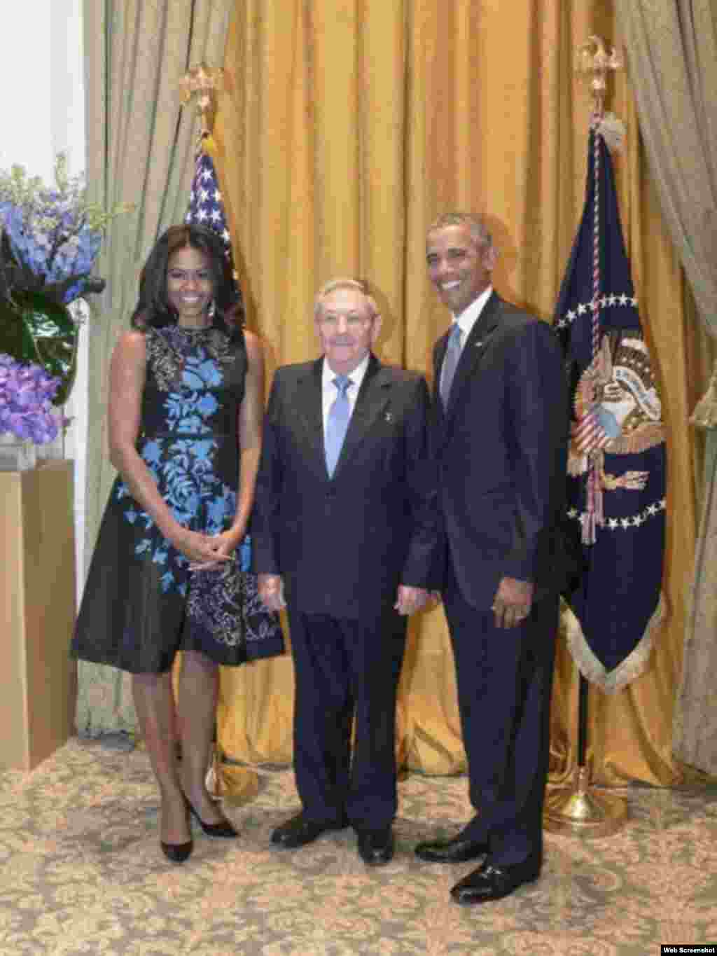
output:
<instances>
[{"instance_id":1,"label":"dark suit trousers of the tall man on the right","mask_svg":"<svg viewBox=\"0 0 717 956\"><path fill-rule=\"evenodd\" d=\"M447 563L445 616L476 810L462 838L488 840L495 865L541 858L558 596L534 601L516 627L497 628L490 608L467 603Z\"/></svg>"}]
</instances>

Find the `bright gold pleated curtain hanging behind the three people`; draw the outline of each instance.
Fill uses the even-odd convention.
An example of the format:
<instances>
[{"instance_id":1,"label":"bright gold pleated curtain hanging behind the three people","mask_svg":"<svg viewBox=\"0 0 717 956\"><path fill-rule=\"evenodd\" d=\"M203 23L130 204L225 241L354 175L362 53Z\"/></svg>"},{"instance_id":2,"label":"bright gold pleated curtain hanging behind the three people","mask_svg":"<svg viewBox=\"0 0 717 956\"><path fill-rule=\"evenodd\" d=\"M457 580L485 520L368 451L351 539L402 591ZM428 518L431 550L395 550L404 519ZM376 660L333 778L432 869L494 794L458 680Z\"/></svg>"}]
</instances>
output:
<instances>
[{"instance_id":1,"label":"bright gold pleated curtain hanging behind the three people","mask_svg":"<svg viewBox=\"0 0 717 956\"><path fill-rule=\"evenodd\" d=\"M619 42L611 3L236 3L214 134L249 325L266 339L270 371L315 356L315 289L350 273L379 291L381 358L429 375L448 316L426 280L424 234L451 208L487 217L498 291L551 318L584 197L591 99L573 57L591 33ZM693 307L647 176L630 80L611 83L608 106L628 130L616 160L622 222L669 432L667 618L647 673L614 696L591 691L589 760L597 783L665 785L681 775L670 738L695 539L686 423L704 381L695 381ZM561 641L554 780L575 766L576 686ZM221 749L291 760L292 707L289 657L225 671ZM440 608L411 623L398 720L409 768L465 769Z\"/></svg>"}]
</instances>

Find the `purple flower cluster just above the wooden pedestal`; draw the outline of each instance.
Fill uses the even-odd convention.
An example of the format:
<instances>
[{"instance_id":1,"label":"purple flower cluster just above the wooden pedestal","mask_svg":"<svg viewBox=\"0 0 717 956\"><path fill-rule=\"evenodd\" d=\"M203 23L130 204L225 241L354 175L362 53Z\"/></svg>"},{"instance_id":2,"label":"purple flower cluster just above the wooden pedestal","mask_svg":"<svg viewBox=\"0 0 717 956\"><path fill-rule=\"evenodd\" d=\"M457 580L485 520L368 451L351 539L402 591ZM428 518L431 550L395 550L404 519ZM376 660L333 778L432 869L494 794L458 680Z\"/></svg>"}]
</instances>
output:
<instances>
[{"instance_id":1,"label":"purple flower cluster just above the wooden pedestal","mask_svg":"<svg viewBox=\"0 0 717 956\"><path fill-rule=\"evenodd\" d=\"M52 411L59 384L41 365L25 365L0 353L0 434L9 432L35 445L52 442L59 430Z\"/></svg>"}]
</instances>

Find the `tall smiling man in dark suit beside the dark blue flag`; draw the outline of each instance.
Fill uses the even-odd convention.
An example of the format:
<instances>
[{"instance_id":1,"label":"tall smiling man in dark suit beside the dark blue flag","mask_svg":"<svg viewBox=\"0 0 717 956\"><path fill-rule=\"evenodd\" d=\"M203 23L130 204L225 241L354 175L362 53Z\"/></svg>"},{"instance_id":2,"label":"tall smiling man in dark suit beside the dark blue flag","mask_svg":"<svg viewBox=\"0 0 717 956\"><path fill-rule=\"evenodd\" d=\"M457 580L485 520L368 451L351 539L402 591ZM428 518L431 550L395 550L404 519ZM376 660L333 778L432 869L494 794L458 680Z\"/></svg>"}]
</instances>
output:
<instances>
[{"instance_id":1,"label":"tall smiling man in dark suit beside the dark blue flag","mask_svg":"<svg viewBox=\"0 0 717 956\"><path fill-rule=\"evenodd\" d=\"M476 815L416 853L484 857L451 890L475 903L535 880L542 863L568 399L550 327L493 292L496 252L482 222L443 216L426 255L453 314L434 350L434 441L442 591Z\"/></svg>"}]
</instances>

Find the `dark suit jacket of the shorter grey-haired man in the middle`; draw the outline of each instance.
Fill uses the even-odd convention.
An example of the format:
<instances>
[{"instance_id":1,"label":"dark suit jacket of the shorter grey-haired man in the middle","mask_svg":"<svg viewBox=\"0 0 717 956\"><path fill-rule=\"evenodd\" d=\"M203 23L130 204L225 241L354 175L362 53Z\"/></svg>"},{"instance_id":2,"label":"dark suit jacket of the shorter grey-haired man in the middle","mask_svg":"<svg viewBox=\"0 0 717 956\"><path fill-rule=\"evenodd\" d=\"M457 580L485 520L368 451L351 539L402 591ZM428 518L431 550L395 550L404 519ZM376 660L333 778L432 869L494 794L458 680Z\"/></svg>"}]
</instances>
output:
<instances>
[{"instance_id":1,"label":"dark suit jacket of the shorter grey-haired man in the middle","mask_svg":"<svg viewBox=\"0 0 717 956\"><path fill-rule=\"evenodd\" d=\"M369 359L329 478L322 359L277 369L251 523L254 570L305 613L359 619L428 587L440 539L423 377Z\"/></svg>"}]
</instances>

